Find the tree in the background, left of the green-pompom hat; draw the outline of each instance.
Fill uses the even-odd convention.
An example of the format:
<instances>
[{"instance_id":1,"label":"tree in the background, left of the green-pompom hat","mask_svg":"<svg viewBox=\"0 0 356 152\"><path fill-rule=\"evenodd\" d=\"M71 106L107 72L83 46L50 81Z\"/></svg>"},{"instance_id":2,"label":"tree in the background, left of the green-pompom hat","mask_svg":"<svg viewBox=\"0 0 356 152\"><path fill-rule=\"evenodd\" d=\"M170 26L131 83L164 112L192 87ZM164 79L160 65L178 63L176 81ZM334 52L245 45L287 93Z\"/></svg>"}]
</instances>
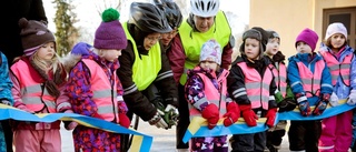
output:
<instances>
[{"instance_id":1,"label":"tree in the background, left of the green-pompom hat","mask_svg":"<svg viewBox=\"0 0 356 152\"><path fill-rule=\"evenodd\" d=\"M55 17L56 23L56 42L57 53L62 57L70 52L78 39L78 29L73 27L78 20L76 13L72 12L73 6L70 6L71 0L55 0L57 11Z\"/></svg>"}]
</instances>

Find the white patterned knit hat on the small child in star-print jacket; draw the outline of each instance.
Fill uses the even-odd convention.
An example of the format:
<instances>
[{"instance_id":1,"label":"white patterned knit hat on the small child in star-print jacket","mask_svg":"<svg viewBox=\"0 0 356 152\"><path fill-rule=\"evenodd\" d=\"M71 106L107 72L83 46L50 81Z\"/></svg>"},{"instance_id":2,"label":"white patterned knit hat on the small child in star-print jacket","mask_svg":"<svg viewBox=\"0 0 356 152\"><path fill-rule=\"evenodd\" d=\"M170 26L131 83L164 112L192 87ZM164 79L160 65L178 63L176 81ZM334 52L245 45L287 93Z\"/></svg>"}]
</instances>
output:
<instances>
[{"instance_id":1,"label":"white patterned knit hat on the small child in star-print jacket","mask_svg":"<svg viewBox=\"0 0 356 152\"><path fill-rule=\"evenodd\" d=\"M205 61L208 58L212 59L217 64L221 64L221 47L214 39L202 44L199 62Z\"/></svg>"}]
</instances>

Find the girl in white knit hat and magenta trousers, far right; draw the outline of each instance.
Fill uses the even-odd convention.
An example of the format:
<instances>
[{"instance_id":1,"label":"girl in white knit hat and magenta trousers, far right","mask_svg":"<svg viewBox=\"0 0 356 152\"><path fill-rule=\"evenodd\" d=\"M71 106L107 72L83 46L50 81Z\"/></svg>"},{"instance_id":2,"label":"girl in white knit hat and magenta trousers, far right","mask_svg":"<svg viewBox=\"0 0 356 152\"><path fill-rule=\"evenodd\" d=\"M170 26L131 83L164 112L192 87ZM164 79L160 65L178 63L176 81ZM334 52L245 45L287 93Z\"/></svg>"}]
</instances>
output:
<instances>
[{"instance_id":1,"label":"girl in white knit hat and magenta trousers, far right","mask_svg":"<svg viewBox=\"0 0 356 152\"><path fill-rule=\"evenodd\" d=\"M332 107L338 105L339 99L352 99L356 95L356 72L354 49L347 44L347 30L340 22L328 26L325 42L322 44L320 54L332 73L333 94ZM342 74L342 75L340 75ZM355 98L353 99L355 100ZM322 121L322 135L319 139L319 152L346 152L353 140L352 133L353 111L326 118Z\"/></svg>"}]
</instances>

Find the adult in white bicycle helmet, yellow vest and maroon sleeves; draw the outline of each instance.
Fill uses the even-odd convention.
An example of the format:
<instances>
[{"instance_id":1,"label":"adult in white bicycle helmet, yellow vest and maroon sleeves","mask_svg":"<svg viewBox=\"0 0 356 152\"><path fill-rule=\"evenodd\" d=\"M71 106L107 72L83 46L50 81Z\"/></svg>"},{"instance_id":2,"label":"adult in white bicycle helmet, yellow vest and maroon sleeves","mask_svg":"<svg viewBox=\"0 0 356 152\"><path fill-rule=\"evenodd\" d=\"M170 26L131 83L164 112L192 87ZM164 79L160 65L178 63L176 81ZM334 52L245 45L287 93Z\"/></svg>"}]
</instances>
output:
<instances>
[{"instance_id":1,"label":"adult in white bicycle helmet, yellow vest and maroon sleeves","mask_svg":"<svg viewBox=\"0 0 356 152\"><path fill-rule=\"evenodd\" d=\"M187 71L199 63L200 48L204 42L215 39L221 45L221 64L228 69L231 64L234 37L225 13L219 9L219 0L190 0L189 17L178 28L179 33L171 43L171 53L168 53L178 83L179 121L177 124L177 149L187 151L188 143L182 142L189 125L188 103L184 99L184 85L187 81Z\"/></svg>"}]
</instances>

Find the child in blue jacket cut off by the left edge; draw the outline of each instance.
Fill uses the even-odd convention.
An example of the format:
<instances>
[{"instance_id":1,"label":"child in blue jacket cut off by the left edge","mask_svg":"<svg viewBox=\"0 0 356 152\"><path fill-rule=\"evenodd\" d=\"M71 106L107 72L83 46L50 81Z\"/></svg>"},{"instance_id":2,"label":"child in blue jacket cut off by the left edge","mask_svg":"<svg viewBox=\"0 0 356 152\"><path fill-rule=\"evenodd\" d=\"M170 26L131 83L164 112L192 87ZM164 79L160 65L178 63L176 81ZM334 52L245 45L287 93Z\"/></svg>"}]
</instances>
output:
<instances>
[{"instance_id":1,"label":"child in blue jacket cut off by the left edge","mask_svg":"<svg viewBox=\"0 0 356 152\"><path fill-rule=\"evenodd\" d=\"M0 51L0 103L12 105L13 99L11 94L12 82L9 78L9 67L7 57ZM2 125L0 124L0 151L7 151L7 144Z\"/></svg>"}]
</instances>

